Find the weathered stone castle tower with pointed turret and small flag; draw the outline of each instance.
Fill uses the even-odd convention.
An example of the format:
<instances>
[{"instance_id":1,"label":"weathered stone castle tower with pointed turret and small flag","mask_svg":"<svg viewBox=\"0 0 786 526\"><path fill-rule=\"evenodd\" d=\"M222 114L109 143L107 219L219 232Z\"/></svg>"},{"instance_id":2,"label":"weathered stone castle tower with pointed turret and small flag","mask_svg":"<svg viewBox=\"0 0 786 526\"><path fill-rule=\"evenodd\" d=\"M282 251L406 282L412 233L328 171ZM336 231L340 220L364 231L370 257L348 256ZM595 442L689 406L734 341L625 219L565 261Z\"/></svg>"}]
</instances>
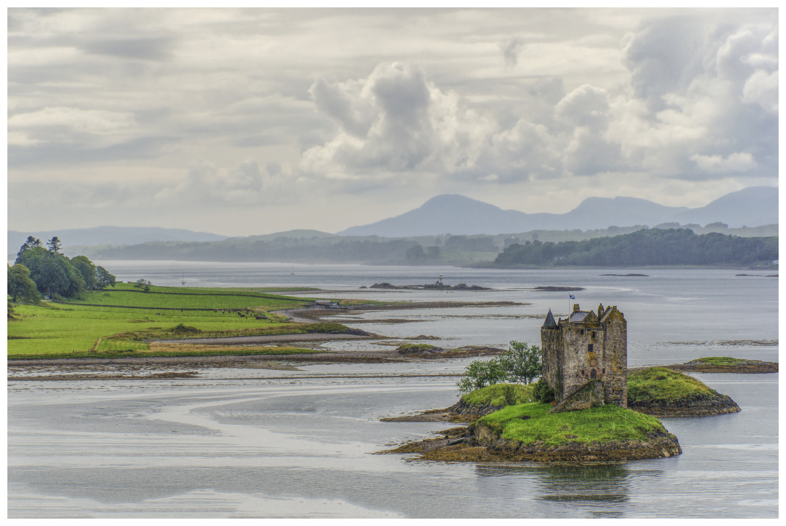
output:
<instances>
[{"instance_id":1,"label":"weathered stone castle tower with pointed turret and small flag","mask_svg":"<svg viewBox=\"0 0 786 526\"><path fill-rule=\"evenodd\" d=\"M549 309L541 327L542 377L554 389L555 410L614 403L628 406L627 322L617 307L603 305L559 322Z\"/></svg>"}]
</instances>

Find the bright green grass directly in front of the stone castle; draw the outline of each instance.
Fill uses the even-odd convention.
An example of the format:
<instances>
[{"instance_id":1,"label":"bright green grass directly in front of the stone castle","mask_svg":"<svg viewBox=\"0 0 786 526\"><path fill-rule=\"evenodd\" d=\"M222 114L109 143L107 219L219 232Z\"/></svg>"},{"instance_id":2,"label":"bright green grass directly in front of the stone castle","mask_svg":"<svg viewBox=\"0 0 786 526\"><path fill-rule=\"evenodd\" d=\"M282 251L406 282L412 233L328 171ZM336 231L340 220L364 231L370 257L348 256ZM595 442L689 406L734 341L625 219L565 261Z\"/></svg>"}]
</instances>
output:
<instances>
[{"instance_id":1,"label":"bright green grass directly in front of the stone castle","mask_svg":"<svg viewBox=\"0 0 786 526\"><path fill-rule=\"evenodd\" d=\"M507 406L479 418L475 425L485 425L505 440L542 443L546 447L569 442L646 440L648 432L666 432L656 417L614 404L554 414L549 414L550 409L549 403Z\"/></svg>"}]
</instances>

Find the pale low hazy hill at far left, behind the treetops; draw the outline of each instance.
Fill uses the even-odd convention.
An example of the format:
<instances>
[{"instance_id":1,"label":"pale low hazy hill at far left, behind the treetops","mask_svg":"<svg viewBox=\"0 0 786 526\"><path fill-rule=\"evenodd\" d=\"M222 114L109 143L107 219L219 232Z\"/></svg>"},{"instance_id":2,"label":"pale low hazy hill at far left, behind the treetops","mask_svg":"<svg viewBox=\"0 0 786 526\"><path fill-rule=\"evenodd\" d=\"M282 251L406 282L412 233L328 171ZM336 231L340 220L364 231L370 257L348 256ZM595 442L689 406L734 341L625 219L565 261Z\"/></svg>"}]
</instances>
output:
<instances>
[{"instance_id":1,"label":"pale low hazy hill at far left, behind the treetops","mask_svg":"<svg viewBox=\"0 0 786 526\"><path fill-rule=\"evenodd\" d=\"M158 226L94 226L93 228L68 228L49 232L8 231L8 253L16 254L28 236L42 242L53 236L60 238L64 247L75 245L138 245L147 241L221 241L229 236L192 232Z\"/></svg>"}]
</instances>

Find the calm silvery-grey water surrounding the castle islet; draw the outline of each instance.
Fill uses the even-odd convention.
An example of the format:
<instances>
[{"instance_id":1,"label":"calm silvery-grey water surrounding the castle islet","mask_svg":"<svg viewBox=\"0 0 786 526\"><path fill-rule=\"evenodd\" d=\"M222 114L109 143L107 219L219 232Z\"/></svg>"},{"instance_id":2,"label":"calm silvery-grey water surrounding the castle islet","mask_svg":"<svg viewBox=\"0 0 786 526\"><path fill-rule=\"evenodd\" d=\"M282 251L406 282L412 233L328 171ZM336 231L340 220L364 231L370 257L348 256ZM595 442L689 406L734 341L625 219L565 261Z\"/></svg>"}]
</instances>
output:
<instances>
[{"instance_id":1,"label":"calm silvery-grey water surrounding the castle islet","mask_svg":"<svg viewBox=\"0 0 786 526\"><path fill-rule=\"evenodd\" d=\"M516 301L514 307L342 314L390 336L432 334L447 347L538 343L541 316L617 305L631 365L707 355L777 361L777 279L734 270L472 270L272 263L98 263L156 285L319 286L336 296ZM487 292L354 292L435 281ZM766 274L747 271L748 274ZM332 295L328 295L330 297ZM367 322L397 318L407 323ZM336 342L358 348L374 342ZM665 418L678 458L591 468L406 462L371 454L449 425L383 416L449 406L468 360L206 368L196 381L9 382L9 517L777 517L777 374L696 375L742 407ZM178 368L173 367L173 370ZM193 367L181 369L193 370ZM107 366L94 370L106 371ZM50 370L52 372L52 370ZM313 378L350 374L394 378ZM312 378L306 378L306 376ZM286 377L277 379L276 377Z\"/></svg>"}]
</instances>

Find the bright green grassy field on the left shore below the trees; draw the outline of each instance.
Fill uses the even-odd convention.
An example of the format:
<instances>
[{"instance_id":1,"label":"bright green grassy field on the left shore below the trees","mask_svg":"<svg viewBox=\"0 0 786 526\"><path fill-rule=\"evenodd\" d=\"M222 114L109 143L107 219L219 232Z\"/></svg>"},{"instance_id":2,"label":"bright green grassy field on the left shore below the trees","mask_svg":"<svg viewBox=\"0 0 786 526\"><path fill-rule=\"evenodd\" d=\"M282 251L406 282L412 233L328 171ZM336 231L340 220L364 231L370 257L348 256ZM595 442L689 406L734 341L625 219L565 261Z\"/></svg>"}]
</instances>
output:
<instances>
[{"instance_id":1,"label":"bright green grassy field on the left shore below the trees","mask_svg":"<svg viewBox=\"0 0 786 526\"><path fill-rule=\"evenodd\" d=\"M312 301L310 298L275 296L258 292L258 289L150 289L150 292L141 292L133 285L118 284L115 289L83 292L81 300L68 300L75 304L17 305L13 314L16 319L8 322L8 357L107 357L119 352L150 355L150 344L141 340L331 330L325 324L287 323L285 318L275 314L266 314L265 318L257 320L253 316L241 318L226 311L248 307L254 314L265 314L271 310L303 307ZM333 332L337 330L340 329L332 327ZM268 349L270 352L276 350L279 354L294 352L292 348ZM189 352L193 354L196 349Z\"/></svg>"}]
</instances>

